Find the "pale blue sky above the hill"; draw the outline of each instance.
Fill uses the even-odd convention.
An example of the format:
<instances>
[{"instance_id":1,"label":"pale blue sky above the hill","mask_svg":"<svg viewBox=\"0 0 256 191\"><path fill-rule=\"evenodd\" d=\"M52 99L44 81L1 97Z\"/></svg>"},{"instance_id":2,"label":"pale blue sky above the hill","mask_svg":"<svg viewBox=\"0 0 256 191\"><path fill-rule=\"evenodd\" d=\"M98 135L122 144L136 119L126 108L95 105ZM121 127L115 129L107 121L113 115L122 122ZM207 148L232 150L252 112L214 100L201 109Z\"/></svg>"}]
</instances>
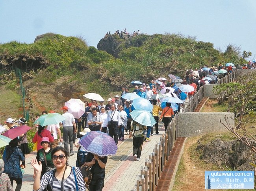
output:
<instances>
[{"instance_id":1,"label":"pale blue sky above the hill","mask_svg":"<svg viewBox=\"0 0 256 191\"><path fill-rule=\"evenodd\" d=\"M0 43L32 43L54 32L82 36L95 46L106 32L182 33L256 54L255 0L1 0Z\"/></svg>"}]
</instances>

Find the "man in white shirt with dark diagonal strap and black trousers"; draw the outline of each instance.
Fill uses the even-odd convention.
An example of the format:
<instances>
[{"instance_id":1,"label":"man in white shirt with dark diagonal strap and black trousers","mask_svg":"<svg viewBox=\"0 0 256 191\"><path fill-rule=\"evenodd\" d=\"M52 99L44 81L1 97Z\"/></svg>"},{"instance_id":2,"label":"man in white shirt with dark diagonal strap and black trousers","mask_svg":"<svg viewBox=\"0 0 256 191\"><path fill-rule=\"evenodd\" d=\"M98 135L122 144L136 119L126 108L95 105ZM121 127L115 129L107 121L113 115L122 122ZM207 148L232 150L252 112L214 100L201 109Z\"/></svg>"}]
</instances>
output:
<instances>
[{"instance_id":1,"label":"man in white shirt with dark diagonal strap and black trousers","mask_svg":"<svg viewBox=\"0 0 256 191\"><path fill-rule=\"evenodd\" d=\"M119 116L119 112L116 110L115 104L111 104L110 107L111 110L108 112L108 130L109 130L109 136L111 136L115 143L118 143L118 128L121 125L121 119Z\"/></svg>"}]
</instances>

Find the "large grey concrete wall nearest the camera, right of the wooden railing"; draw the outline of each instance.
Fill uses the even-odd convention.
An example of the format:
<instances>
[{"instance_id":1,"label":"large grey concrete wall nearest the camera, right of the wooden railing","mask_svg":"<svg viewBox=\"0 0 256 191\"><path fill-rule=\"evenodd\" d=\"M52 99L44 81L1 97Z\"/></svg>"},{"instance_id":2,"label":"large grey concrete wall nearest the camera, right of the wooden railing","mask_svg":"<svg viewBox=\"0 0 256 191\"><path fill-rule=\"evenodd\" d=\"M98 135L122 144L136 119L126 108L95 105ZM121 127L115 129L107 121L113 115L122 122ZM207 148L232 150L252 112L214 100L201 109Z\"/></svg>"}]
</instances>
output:
<instances>
[{"instance_id":1,"label":"large grey concrete wall nearest the camera, right of the wooden railing","mask_svg":"<svg viewBox=\"0 0 256 191\"><path fill-rule=\"evenodd\" d=\"M227 132L224 117L230 121L230 125L234 127L234 113L218 112L218 113L179 113L178 114L178 137L191 137L203 135L210 132Z\"/></svg>"}]
</instances>

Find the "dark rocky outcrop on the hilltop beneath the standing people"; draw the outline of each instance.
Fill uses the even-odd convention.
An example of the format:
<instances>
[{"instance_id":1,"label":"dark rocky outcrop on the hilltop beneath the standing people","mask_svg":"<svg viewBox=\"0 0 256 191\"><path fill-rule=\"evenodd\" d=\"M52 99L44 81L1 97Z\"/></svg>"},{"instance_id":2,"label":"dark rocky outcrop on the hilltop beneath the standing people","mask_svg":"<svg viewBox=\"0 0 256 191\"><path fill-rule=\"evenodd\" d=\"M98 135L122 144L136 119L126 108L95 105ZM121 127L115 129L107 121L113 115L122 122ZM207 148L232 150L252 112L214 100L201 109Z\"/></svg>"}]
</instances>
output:
<instances>
[{"instance_id":1,"label":"dark rocky outcrop on the hilltop beneath the standing people","mask_svg":"<svg viewBox=\"0 0 256 191\"><path fill-rule=\"evenodd\" d=\"M118 57L118 53L122 50L121 46L125 43L125 39L121 39L119 35L108 35L103 39L100 39L100 42L97 44L98 50L106 51L107 53Z\"/></svg>"}]
</instances>

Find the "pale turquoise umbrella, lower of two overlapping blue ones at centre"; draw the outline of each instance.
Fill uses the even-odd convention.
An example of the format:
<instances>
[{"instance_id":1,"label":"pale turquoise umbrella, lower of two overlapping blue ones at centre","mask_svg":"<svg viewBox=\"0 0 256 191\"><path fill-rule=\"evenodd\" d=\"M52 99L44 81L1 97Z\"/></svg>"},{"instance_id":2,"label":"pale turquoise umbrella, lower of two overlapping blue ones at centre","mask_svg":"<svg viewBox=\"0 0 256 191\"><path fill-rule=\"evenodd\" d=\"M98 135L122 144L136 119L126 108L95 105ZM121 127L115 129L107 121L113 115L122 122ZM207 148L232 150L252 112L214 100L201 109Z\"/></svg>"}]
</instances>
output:
<instances>
[{"instance_id":1,"label":"pale turquoise umbrella, lower of two overlapping blue ones at centre","mask_svg":"<svg viewBox=\"0 0 256 191\"><path fill-rule=\"evenodd\" d=\"M154 119L153 115L148 111L136 109L130 112L130 115L134 121L140 123L141 125L153 127L153 125L156 124L156 120Z\"/></svg>"}]
</instances>

